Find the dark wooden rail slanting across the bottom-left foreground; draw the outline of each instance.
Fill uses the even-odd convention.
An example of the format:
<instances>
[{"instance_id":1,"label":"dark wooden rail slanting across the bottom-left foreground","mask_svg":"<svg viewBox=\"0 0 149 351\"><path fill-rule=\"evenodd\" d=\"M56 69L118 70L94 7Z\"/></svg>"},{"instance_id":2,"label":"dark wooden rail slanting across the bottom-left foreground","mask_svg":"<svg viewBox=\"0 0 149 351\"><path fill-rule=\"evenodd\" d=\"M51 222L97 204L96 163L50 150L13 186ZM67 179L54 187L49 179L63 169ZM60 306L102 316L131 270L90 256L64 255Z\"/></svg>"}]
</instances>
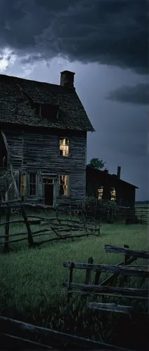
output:
<instances>
[{"instance_id":1,"label":"dark wooden rail slanting across the bottom-left foreground","mask_svg":"<svg viewBox=\"0 0 149 351\"><path fill-rule=\"evenodd\" d=\"M36 340L36 341L35 341ZM98 341L80 338L60 331L42 328L33 324L0 317L0 343L3 349L18 348L22 350L120 350L129 351L123 347L108 345Z\"/></svg>"}]
</instances>

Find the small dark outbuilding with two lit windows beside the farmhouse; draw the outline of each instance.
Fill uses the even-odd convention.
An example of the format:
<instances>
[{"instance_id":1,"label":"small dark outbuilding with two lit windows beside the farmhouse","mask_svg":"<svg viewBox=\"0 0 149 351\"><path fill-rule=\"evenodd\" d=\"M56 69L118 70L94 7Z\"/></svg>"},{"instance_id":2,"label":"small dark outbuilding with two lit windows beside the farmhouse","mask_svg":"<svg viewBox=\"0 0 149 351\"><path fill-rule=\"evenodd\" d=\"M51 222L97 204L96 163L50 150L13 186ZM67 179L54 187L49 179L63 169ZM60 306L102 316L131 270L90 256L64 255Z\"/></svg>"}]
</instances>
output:
<instances>
[{"instance_id":1,"label":"small dark outbuilding with two lit windows beside the farmhouse","mask_svg":"<svg viewBox=\"0 0 149 351\"><path fill-rule=\"evenodd\" d=\"M134 207L135 185L120 179L120 166L118 173L109 174L108 170L101 171L91 166L86 169L86 192L87 196L97 197L99 200L113 200L118 206Z\"/></svg>"}]
</instances>

